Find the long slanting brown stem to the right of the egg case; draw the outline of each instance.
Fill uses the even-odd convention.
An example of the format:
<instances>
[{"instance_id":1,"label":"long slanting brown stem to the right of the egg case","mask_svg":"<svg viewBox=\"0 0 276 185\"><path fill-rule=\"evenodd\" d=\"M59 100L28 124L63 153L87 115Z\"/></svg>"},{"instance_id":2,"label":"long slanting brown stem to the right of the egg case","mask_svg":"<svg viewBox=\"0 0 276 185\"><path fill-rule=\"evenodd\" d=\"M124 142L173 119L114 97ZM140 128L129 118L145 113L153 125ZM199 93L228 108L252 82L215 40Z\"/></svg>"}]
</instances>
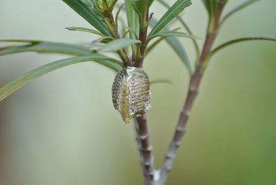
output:
<instances>
[{"instance_id":1,"label":"long slanting brown stem to the right of the egg case","mask_svg":"<svg viewBox=\"0 0 276 185\"><path fill-rule=\"evenodd\" d=\"M186 97L186 101L179 115L179 121L178 121L177 127L175 128L175 134L172 137L172 141L170 142L170 146L166 152L163 165L161 166L161 174L159 179L160 184L165 184L166 179L168 178L168 173L172 168L173 161L177 155L177 148L179 148L182 137L186 132L186 124L187 124L188 118L190 117L190 112L192 110L195 98L197 97L199 84L205 72L204 64L208 61L208 55L210 53L210 49L213 46L215 37L217 36L217 31L219 29L219 19L221 16L221 12L225 6L225 3L223 2L224 2L223 0L220 0L218 2L215 19L214 21L209 21L208 23L208 33L206 35L204 48L202 49L201 55L198 59L195 73L190 79L188 95Z\"/></svg>"}]
</instances>

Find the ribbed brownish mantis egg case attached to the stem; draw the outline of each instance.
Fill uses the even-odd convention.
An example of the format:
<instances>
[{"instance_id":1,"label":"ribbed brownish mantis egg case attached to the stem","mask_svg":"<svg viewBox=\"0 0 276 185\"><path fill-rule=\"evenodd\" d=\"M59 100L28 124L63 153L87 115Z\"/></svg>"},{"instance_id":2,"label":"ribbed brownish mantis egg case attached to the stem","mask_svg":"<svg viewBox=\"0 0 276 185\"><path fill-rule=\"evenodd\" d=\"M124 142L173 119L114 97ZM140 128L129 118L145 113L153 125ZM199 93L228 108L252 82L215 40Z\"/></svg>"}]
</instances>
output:
<instances>
[{"instance_id":1,"label":"ribbed brownish mantis egg case attached to the stem","mask_svg":"<svg viewBox=\"0 0 276 185\"><path fill-rule=\"evenodd\" d=\"M112 85L112 101L127 124L150 108L150 82L142 68L126 67L119 71Z\"/></svg>"}]
</instances>

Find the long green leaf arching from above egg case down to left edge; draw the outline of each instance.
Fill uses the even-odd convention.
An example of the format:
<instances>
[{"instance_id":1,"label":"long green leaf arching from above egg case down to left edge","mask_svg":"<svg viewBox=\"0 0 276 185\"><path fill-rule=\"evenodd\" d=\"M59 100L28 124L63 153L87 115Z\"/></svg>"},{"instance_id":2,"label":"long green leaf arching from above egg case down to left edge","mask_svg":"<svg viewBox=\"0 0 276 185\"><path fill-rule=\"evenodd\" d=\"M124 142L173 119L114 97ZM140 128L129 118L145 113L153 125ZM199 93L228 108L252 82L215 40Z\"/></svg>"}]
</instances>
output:
<instances>
[{"instance_id":1,"label":"long green leaf arching from above egg case down to left edge","mask_svg":"<svg viewBox=\"0 0 276 185\"><path fill-rule=\"evenodd\" d=\"M31 70L30 72L27 72L22 77L14 79L10 83L1 87L0 101L8 97L10 94L14 93L14 91L19 90L19 88L25 86L26 84L29 84L31 81L34 81L34 79L37 79L38 77L46 75L48 72L51 72L52 70L57 70L58 68L62 68L72 64L77 64L84 61L95 61L103 66L108 66L113 70L116 70L116 71L121 70L121 66L112 62L111 60L114 61L114 59L109 57L93 55L93 56L85 56L85 57L72 57L69 59L61 59L59 61L51 62L50 64L46 64L44 66Z\"/></svg>"}]
</instances>

